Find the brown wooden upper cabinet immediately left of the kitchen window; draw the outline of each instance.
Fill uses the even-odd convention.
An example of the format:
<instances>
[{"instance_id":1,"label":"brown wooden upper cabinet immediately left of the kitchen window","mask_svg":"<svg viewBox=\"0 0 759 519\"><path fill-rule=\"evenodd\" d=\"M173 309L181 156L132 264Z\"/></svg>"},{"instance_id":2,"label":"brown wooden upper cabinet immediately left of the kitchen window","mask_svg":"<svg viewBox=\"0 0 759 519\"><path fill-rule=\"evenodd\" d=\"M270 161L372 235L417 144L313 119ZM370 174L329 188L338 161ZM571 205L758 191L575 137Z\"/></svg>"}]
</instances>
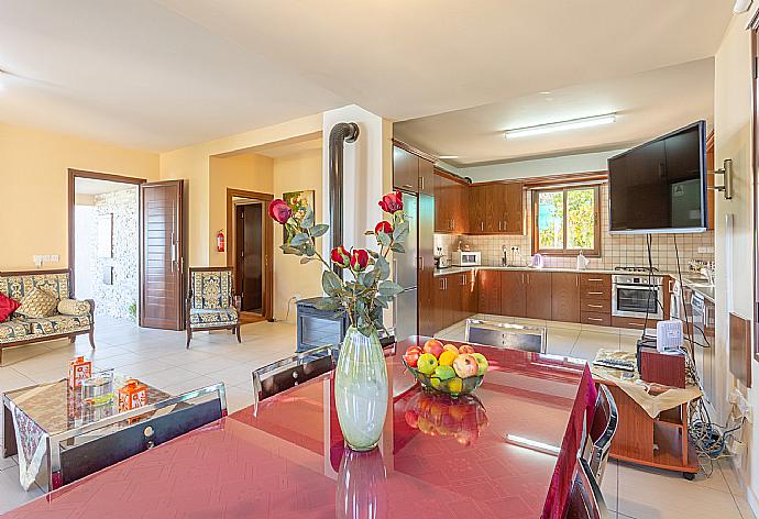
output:
<instances>
[{"instance_id":1,"label":"brown wooden upper cabinet immediately left of the kitchen window","mask_svg":"<svg viewBox=\"0 0 759 519\"><path fill-rule=\"evenodd\" d=\"M471 234L522 234L522 185L486 184L470 187Z\"/></svg>"}]
</instances>

